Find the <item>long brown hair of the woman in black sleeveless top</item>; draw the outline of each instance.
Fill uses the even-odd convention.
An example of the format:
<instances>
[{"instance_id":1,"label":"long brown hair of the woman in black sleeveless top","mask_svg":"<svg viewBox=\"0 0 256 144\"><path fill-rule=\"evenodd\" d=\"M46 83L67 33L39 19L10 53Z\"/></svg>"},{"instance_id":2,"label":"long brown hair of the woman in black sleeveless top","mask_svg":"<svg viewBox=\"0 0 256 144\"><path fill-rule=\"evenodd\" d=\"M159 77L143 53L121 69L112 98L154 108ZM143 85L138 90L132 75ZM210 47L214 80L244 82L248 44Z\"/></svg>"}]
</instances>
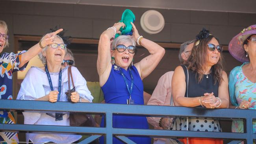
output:
<instances>
[{"instance_id":1,"label":"long brown hair of the woman in black sleeveless top","mask_svg":"<svg viewBox=\"0 0 256 144\"><path fill-rule=\"evenodd\" d=\"M189 58L187 59L187 68L188 70L191 70L192 72L196 72L196 79L197 82L201 82L202 78L204 76L204 66L206 65L208 61L208 42L213 39L213 35L208 35L208 37L204 37L203 39L200 39L199 44L196 46L194 44L193 49L191 51L191 54ZM218 42L219 39L214 37ZM220 44L220 42L219 42ZM223 71L223 54L221 53L219 57L219 61L217 64L211 66L210 73L212 73L214 84L217 82L221 82L223 80L222 78L222 71Z\"/></svg>"}]
</instances>

